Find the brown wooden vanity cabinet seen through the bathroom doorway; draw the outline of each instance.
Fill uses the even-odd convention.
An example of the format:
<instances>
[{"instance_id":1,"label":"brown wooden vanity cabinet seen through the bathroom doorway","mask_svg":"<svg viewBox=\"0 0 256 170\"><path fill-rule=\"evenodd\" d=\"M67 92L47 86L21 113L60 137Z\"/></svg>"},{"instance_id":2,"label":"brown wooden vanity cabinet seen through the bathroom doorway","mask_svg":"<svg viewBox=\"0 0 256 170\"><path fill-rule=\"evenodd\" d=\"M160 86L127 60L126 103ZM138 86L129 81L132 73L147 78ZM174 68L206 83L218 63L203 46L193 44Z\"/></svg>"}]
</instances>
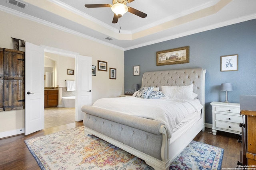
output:
<instances>
[{"instance_id":1,"label":"brown wooden vanity cabinet seen through the bathroom doorway","mask_svg":"<svg viewBox=\"0 0 256 170\"><path fill-rule=\"evenodd\" d=\"M59 98L59 90L44 90L44 108L57 107Z\"/></svg>"}]
</instances>

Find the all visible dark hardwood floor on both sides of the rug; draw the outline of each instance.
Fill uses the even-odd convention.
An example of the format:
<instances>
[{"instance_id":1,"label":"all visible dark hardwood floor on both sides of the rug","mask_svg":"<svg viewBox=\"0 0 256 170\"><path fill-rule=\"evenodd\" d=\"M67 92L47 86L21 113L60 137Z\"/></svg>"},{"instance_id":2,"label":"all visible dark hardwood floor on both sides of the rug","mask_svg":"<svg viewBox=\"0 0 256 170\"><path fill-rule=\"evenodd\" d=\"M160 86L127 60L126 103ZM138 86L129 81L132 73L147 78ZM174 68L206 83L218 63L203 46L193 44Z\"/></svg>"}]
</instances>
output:
<instances>
[{"instance_id":1,"label":"all visible dark hardwood floor on both sides of the rug","mask_svg":"<svg viewBox=\"0 0 256 170\"><path fill-rule=\"evenodd\" d=\"M44 129L28 136L18 135L0 139L0 170L40 170L36 160L26 147L24 140L82 125L83 122L80 121ZM222 168L235 168L237 160L240 159L239 154L241 150L241 144L237 142L237 139L241 139L241 137L220 131L214 136L210 132L211 129L206 129L206 131L200 132L194 140L223 148Z\"/></svg>"}]
</instances>

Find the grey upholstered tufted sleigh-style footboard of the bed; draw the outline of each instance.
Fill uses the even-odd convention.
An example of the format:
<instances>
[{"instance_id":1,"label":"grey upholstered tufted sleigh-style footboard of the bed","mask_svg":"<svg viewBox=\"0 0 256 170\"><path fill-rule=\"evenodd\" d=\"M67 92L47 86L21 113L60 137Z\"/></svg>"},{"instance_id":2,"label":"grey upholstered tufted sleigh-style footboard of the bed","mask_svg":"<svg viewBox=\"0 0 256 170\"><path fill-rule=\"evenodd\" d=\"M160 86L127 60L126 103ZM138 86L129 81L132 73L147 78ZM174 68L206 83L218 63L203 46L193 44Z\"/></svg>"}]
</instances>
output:
<instances>
[{"instance_id":1,"label":"grey upholstered tufted sleigh-style footboard of the bed","mask_svg":"<svg viewBox=\"0 0 256 170\"><path fill-rule=\"evenodd\" d=\"M156 169L166 169L168 139L166 128L156 120L83 106L87 133L138 156Z\"/></svg>"}]
</instances>

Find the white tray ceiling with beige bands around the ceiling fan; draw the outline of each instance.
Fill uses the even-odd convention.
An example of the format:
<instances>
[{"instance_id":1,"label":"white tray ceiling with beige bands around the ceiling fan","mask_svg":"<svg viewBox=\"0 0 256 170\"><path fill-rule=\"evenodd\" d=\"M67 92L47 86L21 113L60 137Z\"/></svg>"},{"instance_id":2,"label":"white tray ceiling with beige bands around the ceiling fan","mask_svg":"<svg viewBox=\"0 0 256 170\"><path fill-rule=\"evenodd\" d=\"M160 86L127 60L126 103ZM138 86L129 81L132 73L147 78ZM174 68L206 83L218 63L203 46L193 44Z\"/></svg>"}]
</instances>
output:
<instances>
[{"instance_id":1,"label":"white tray ceiling with beige bands around the ceiling fan","mask_svg":"<svg viewBox=\"0 0 256 170\"><path fill-rule=\"evenodd\" d=\"M118 23L112 23L111 8L84 6L112 4L112 0L17 1L26 7L1 0L0 10L122 50L256 18L256 0L134 0L127 6L148 14L147 17L127 12Z\"/></svg>"}]
</instances>

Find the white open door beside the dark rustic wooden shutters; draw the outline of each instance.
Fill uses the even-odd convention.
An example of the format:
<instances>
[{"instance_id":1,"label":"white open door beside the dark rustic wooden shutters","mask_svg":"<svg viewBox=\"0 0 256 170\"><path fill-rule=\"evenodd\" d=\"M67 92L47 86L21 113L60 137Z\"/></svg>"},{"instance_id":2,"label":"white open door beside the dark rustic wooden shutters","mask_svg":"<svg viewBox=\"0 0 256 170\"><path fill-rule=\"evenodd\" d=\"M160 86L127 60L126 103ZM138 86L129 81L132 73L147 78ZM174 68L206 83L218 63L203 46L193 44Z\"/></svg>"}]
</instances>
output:
<instances>
[{"instance_id":1,"label":"white open door beside the dark rustic wooden shutters","mask_svg":"<svg viewBox=\"0 0 256 170\"><path fill-rule=\"evenodd\" d=\"M25 44L25 135L44 129L44 48Z\"/></svg>"}]
</instances>

